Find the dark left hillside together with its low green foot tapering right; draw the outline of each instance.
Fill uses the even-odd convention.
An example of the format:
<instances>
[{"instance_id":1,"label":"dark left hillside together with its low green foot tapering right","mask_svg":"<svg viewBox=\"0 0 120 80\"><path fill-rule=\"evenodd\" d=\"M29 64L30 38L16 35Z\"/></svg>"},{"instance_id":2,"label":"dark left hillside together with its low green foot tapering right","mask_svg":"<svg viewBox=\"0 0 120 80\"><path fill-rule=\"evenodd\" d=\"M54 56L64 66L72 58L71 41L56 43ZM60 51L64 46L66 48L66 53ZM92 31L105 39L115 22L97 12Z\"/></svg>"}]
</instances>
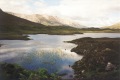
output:
<instances>
[{"instance_id":1,"label":"dark left hillside together with its low green foot tapering right","mask_svg":"<svg viewBox=\"0 0 120 80\"><path fill-rule=\"evenodd\" d=\"M35 19L35 18L34 18ZM0 37L4 34L79 34L78 28L70 26L46 26L32 22L0 9Z\"/></svg>"}]
</instances>

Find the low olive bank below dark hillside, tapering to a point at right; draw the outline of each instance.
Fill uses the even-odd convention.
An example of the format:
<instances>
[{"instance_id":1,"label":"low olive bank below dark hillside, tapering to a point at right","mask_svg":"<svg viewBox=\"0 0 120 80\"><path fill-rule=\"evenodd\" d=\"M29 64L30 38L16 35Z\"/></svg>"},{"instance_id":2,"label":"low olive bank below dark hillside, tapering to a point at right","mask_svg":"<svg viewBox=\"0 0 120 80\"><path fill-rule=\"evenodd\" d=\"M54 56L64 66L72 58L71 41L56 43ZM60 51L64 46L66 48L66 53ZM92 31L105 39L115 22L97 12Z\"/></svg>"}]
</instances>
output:
<instances>
[{"instance_id":1,"label":"low olive bank below dark hillside, tapering to a point at right","mask_svg":"<svg viewBox=\"0 0 120 80\"><path fill-rule=\"evenodd\" d=\"M6 28L0 32L0 40L28 40L28 36L23 34L51 34L51 35L71 35L82 34L77 28L65 26L48 26L48 27L33 27L27 29L9 29Z\"/></svg>"}]
</instances>

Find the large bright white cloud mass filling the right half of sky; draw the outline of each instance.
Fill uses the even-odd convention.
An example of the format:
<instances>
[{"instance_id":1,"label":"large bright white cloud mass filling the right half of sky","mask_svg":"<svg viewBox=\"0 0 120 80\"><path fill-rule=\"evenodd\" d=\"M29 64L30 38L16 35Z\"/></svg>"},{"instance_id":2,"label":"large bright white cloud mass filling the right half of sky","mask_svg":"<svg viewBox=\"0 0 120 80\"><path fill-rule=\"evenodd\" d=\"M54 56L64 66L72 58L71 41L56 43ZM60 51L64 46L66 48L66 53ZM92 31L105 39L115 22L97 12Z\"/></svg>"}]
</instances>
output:
<instances>
[{"instance_id":1,"label":"large bright white cloud mass filling the right half of sky","mask_svg":"<svg viewBox=\"0 0 120 80\"><path fill-rule=\"evenodd\" d=\"M120 0L62 0L58 9L84 25L99 27L120 22L119 8Z\"/></svg>"}]
</instances>

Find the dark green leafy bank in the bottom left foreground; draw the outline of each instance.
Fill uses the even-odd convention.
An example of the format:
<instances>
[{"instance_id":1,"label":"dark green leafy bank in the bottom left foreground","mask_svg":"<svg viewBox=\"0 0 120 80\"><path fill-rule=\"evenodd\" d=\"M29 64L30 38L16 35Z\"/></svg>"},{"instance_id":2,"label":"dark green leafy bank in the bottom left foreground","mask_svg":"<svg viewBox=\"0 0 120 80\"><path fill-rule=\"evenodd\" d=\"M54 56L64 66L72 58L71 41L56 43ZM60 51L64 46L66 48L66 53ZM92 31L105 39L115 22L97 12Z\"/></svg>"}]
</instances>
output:
<instances>
[{"instance_id":1,"label":"dark green leafy bank in the bottom left foreground","mask_svg":"<svg viewBox=\"0 0 120 80\"><path fill-rule=\"evenodd\" d=\"M17 64L0 64L0 80L61 80L56 74L48 74L46 69L31 71Z\"/></svg>"}]
</instances>

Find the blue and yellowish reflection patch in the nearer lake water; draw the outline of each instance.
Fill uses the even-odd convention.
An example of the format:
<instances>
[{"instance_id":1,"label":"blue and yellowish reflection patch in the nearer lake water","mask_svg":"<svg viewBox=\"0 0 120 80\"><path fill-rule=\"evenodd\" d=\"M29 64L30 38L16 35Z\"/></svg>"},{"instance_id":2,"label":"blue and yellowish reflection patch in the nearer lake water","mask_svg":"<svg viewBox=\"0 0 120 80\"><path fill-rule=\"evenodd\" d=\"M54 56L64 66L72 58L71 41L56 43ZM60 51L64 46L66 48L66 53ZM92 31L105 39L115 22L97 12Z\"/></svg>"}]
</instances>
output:
<instances>
[{"instance_id":1,"label":"blue and yellowish reflection patch in the nearer lake water","mask_svg":"<svg viewBox=\"0 0 120 80\"><path fill-rule=\"evenodd\" d=\"M72 65L74 61L79 59L77 54L62 49L37 48L27 53L21 64L32 70L46 68L49 72L58 72L64 66Z\"/></svg>"}]
</instances>

